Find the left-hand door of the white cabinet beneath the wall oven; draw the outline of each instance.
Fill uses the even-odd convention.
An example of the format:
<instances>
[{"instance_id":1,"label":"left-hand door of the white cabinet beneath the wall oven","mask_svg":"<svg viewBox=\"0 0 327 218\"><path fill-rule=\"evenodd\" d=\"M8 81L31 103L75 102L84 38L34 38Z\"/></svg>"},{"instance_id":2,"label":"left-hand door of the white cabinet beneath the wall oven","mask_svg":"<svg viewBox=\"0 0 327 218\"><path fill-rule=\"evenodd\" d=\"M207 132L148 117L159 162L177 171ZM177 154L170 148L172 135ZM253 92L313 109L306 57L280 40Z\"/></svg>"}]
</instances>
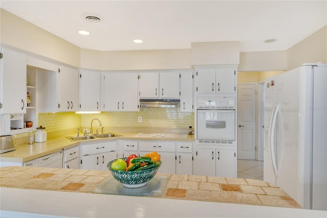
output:
<instances>
[{"instance_id":1,"label":"left-hand door of the white cabinet beneath the wall oven","mask_svg":"<svg viewBox=\"0 0 327 218\"><path fill-rule=\"evenodd\" d=\"M216 176L216 149L199 148L196 158L198 176Z\"/></svg>"}]
</instances>

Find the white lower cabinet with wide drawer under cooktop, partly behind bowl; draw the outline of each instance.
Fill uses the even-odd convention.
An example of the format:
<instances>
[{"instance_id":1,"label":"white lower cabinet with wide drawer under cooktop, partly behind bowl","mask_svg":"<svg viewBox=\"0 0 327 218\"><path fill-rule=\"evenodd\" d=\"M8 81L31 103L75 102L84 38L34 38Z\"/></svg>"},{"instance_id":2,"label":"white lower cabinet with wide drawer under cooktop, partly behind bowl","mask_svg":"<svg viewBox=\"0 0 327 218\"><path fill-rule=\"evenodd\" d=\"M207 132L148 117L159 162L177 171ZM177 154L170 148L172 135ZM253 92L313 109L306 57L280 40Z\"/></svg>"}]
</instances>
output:
<instances>
[{"instance_id":1,"label":"white lower cabinet with wide drawer under cooktop, partly behind bowl","mask_svg":"<svg viewBox=\"0 0 327 218\"><path fill-rule=\"evenodd\" d=\"M162 161L158 170L159 173L175 174L175 142L140 141L138 145L139 156L143 156L152 151L158 152Z\"/></svg>"}]
</instances>

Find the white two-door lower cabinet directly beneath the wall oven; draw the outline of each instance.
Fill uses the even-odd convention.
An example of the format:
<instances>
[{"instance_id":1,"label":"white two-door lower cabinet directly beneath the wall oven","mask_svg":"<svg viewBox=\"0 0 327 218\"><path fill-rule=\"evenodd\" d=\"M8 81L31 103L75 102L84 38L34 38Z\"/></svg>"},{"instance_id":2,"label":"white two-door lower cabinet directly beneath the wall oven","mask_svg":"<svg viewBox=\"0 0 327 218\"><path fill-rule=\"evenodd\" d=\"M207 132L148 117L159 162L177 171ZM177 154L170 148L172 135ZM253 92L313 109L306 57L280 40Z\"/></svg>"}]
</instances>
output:
<instances>
[{"instance_id":1,"label":"white two-door lower cabinet directly beneath the wall oven","mask_svg":"<svg viewBox=\"0 0 327 218\"><path fill-rule=\"evenodd\" d=\"M237 177L237 158L234 148L198 148L197 175Z\"/></svg>"}]
</instances>

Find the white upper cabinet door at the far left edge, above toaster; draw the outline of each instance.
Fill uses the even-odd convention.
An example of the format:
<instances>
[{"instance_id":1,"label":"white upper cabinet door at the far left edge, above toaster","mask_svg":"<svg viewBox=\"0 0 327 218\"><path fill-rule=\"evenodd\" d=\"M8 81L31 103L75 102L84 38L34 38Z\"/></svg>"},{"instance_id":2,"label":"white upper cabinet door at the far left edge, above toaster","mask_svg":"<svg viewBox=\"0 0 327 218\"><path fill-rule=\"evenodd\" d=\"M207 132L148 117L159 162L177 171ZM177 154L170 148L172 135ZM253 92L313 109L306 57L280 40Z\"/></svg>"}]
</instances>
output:
<instances>
[{"instance_id":1,"label":"white upper cabinet door at the far left edge, above toaster","mask_svg":"<svg viewBox=\"0 0 327 218\"><path fill-rule=\"evenodd\" d=\"M26 55L2 49L1 113L26 113Z\"/></svg>"}]
</instances>

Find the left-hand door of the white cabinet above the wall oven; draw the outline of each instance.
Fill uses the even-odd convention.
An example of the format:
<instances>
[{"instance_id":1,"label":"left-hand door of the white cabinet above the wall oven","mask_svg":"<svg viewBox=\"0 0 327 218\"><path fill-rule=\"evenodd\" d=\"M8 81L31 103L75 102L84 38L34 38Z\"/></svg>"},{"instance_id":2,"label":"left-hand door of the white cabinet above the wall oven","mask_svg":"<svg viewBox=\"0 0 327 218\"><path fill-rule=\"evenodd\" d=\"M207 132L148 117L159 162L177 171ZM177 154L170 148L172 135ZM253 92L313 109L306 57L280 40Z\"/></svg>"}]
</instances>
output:
<instances>
[{"instance_id":1,"label":"left-hand door of the white cabinet above the wall oven","mask_svg":"<svg viewBox=\"0 0 327 218\"><path fill-rule=\"evenodd\" d=\"M196 78L197 93L216 93L215 68L198 69L195 78Z\"/></svg>"}]
</instances>

